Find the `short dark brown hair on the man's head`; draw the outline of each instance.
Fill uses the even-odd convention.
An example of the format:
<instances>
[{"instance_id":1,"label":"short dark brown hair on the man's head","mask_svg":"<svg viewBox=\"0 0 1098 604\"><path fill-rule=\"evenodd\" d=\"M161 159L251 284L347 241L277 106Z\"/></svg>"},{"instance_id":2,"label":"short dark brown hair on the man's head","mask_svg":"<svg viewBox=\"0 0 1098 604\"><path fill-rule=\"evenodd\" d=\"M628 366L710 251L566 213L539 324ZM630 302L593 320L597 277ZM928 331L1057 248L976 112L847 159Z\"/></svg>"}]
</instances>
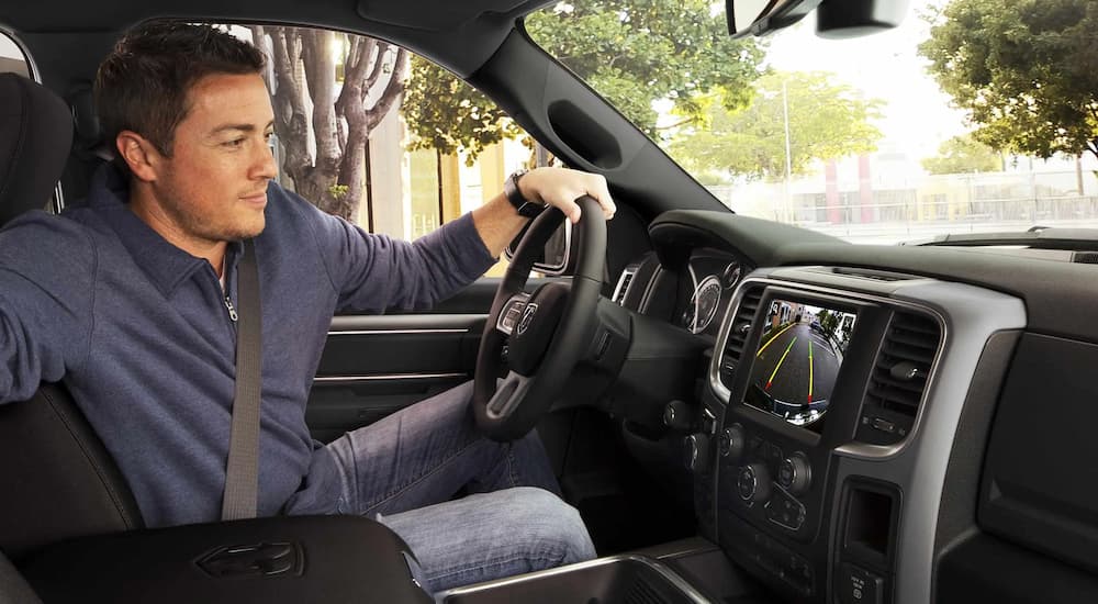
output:
<instances>
[{"instance_id":1,"label":"short dark brown hair on the man's head","mask_svg":"<svg viewBox=\"0 0 1098 604\"><path fill-rule=\"evenodd\" d=\"M258 48L210 25L167 20L137 25L114 45L96 75L96 109L105 143L114 150L119 133L130 130L170 156L194 82L213 74L260 74L264 64Z\"/></svg>"}]
</instances>

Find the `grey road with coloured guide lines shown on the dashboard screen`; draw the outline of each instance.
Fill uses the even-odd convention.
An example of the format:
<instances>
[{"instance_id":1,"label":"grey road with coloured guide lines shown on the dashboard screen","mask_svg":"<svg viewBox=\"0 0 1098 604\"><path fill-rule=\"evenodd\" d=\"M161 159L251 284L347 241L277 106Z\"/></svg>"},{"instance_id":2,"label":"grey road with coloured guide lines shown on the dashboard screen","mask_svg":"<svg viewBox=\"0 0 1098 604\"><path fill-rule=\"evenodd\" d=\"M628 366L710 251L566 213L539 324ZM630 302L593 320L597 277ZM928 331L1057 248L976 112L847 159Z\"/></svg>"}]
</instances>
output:
<instances>
[{"instance_id":1,"label":"grey road with coloured guide lines shown on the dashboard screen","mask_svg":"<svg viewBox=\"0 0 1098 604\"><path fill-rule=\"evenodd\" d=\"M763 336L751 368L751 383L772 399L808 404L831 396L839 360L822 334L795 323Z\"/></svg>"}]
</instances>

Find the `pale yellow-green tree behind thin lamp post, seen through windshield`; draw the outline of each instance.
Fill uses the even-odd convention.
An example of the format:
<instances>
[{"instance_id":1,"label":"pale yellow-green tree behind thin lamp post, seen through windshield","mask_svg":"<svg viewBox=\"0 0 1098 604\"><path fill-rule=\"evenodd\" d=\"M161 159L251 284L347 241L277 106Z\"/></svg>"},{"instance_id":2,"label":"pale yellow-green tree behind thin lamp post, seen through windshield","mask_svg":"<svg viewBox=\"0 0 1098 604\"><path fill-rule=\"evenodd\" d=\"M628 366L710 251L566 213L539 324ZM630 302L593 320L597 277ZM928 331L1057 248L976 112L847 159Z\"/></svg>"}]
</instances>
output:
<instances>
[{"instance_id":1,"label":"pale yellow-green tree behind thin lamp post, seen through windshield","mask_svg":"<svg viewBox=\"0 0 1098 604\"><path fill-rule=\"evenodd\" d=\"M871 123L882 101L863 98L831 74L769 74L755 82L751 104L735 111L722 92L701 103L703 127L685 128L672 143L672 154L692 171L783 178L786 115L792 175L806 174L814 160L872 152L882 137Z\"/></svg>"}]
</instances>

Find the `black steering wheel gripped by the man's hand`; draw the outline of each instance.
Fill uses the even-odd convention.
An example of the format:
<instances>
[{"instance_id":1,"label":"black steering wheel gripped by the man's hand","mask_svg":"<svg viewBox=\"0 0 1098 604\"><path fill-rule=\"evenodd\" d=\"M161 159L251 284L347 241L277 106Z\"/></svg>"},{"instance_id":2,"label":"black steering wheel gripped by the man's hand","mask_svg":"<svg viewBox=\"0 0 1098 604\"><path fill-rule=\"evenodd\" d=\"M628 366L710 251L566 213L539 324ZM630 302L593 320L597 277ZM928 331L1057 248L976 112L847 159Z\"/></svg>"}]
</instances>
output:
<instances>
[{"instance_id":1,"label":"black steering wheel gripped by the man's hand","mask_svg":"<svg viewBox=\"0 0 1098 604\"><path fill-rule=\"evenodd\" d=\"M571 283L524 291L534 261L564 217L549 208L530 224L496 290L473 378L477 424L494 440L526 435L591 347L606 264L606 220L593 198L584 195L576 203L582 215L572 230L579 258ZM500 382L505 344L509 370Z\"/></svg>"}]
</instances>

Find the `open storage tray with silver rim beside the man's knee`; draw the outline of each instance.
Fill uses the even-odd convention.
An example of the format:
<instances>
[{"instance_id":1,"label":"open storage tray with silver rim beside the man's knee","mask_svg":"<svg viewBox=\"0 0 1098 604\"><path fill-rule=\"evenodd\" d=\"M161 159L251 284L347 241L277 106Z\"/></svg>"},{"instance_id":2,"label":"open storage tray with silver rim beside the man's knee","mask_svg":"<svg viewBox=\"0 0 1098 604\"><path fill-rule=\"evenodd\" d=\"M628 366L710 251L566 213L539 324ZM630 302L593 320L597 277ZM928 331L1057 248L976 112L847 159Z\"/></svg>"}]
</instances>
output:
<instances>
[{"instance_id":1,"label":"open storage tray with silver rim beside the man's knee","mask_svg":"<svg viewBox=\"0 0 1098 604\"><path fill-rule=\"evenodd\" d=\"M694 604L706 602L662 563L641 556L591 562L503 579L440 594L445 604Z\"/></svg>"}]
</instances>

